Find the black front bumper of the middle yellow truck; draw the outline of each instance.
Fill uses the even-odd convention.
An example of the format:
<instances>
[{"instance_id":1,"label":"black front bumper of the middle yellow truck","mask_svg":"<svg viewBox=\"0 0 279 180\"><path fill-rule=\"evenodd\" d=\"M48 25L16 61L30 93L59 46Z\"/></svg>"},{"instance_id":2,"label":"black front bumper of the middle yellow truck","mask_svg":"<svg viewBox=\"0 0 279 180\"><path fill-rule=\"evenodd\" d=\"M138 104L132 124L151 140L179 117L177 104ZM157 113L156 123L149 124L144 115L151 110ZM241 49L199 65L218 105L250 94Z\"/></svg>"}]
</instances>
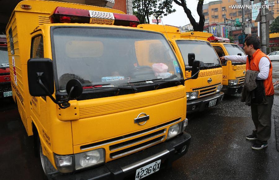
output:
<instances>
[{"instance_id":1,"label":"black front bumper of the middle yellow truck","mask_svg":"<svg viewBox=\"0 0 279 180\"><path fill-rule=\"evenodd\" d=\"M206 107L208 107L209 102L217 99L216 104L218 105L224 98L224 92L218 92L216 94L212 94L210 96L201 97L194 100L187 101L187 113L193 113L198 111L203 111Z\"/></svg>"}]
</instances>

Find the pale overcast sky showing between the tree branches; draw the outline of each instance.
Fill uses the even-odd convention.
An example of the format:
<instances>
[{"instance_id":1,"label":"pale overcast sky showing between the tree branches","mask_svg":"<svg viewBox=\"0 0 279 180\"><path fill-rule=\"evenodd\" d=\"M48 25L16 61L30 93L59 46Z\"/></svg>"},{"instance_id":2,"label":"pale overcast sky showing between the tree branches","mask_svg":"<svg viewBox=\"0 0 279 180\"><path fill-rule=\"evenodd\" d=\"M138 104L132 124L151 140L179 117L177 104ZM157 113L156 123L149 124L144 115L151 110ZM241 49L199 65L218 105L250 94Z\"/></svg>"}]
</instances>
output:
<instances>
[{"instance_id":1,"label":"pale overcast sky showing between the tree branches","mask_svg":"<svg viewBox=\"0 0 279 180\"><path fill-rule=\"evenodd\" d=\"M203 4L206 4L211 1L216 1L216 0L205 0ZM187 7L191 10L192 15L195 18L196 22L199 21L199 15L197 14L197 2L198 0L186 0ZM172 3L172 7L176 11L167 16L163 16L162 23L164 25L184 26L190 23L189 19L187 18L183 10L183 7L175 4L175 2ZM149 20L150 23L152 24L152 16L149 17Z\"/></svg>"}]
</instances>

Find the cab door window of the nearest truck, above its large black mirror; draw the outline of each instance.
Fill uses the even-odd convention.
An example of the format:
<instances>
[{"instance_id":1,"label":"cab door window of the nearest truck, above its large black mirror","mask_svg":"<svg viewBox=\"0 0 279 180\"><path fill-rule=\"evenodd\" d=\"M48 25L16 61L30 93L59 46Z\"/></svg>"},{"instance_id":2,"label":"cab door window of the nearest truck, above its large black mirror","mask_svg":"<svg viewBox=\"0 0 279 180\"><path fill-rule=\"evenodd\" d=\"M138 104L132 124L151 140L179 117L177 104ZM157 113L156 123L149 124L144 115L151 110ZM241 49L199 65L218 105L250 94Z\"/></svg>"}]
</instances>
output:
<instances>
[{"instance_id":1,"label":"cab door window of the nearest truck, above its large black mirror","mask_svg":"<svg viewBox=\"0 0 279 180\"><path fill-rule=\"evenodd\" d=\"M32 39L30 58L43 58L43 57L44 57L44 43L43 43L42 35L40 35Z\"/></svg>"}]
</instances>

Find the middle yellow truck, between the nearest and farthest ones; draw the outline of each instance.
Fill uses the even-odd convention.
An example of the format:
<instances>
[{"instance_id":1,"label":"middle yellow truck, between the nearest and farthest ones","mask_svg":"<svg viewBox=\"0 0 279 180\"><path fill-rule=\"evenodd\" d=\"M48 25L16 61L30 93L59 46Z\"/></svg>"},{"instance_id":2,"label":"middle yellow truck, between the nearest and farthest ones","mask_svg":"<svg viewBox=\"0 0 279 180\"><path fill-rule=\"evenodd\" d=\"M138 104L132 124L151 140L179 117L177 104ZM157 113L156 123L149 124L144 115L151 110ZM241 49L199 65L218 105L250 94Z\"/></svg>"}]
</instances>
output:
<instances>
[{"instance_id":1,"label":"middle yellow truck, between the nearest and farthest ones","mask_svg":"<svg viewBox=\"0 0 279 180\"><path fill-rule=\"evenodd\" d=\"M214 48L206 41L208 33L180 33L174 26L138 25L139 28L161 32L169 39L176 55L186 73L186 78L192 76L193 67L188 63L189 54L194 59L203 62L197 79L189 79L185 83L187 96L187 113L203 111L206 107L219 104L224 97L222 88L222 67ZM190 34L190 35L188 35ZM192 35L192 36L191 36ZM203 37L204 36L204 37ZM204 38L205 40L201 40Z\"/></svg>"}]
</instances>

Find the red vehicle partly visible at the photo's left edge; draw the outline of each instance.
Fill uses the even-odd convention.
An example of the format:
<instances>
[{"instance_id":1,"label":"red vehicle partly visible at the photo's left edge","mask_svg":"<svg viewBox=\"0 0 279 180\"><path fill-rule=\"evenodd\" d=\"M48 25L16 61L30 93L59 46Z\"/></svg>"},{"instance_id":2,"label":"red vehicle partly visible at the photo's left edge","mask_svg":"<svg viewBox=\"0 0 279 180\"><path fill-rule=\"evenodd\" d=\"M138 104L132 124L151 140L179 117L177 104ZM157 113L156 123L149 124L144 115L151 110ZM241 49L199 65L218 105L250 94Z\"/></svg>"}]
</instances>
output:
<instances>
[{"instance_id":1,"label":"red vehicle partly visible at the photo's left edge","mask_svg":"<svg viewBox=\"0 0 279 180\"><path fill-rule=\"evenodd\" d=\"M12 96L7 39L0 37L0 98Z\"/></svg>"}]
</instances>

